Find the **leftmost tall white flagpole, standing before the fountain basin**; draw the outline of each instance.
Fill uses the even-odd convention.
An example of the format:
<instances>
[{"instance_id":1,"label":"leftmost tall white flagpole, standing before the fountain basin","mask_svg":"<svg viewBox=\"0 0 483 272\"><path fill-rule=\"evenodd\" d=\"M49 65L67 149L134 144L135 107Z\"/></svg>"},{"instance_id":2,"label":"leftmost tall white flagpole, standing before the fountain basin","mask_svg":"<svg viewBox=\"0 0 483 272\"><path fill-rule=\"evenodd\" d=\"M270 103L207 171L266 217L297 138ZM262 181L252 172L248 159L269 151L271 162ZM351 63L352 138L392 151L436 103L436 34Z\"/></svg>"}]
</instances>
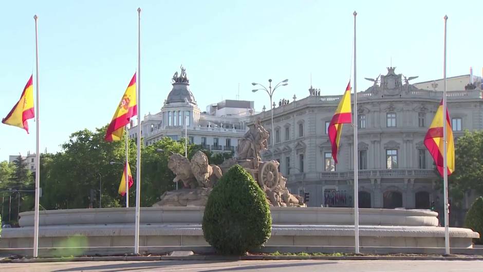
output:
<instances>
[{"instance_id":1,"label":"leftmost tall white flagpole, standing before the fountain basin","mask_svg":"<svg viewBox=\"0 0 483 272\"><path fill-rule=\"evenodd\" d=\"M39 188L40 188L40 119L39 119L39 38L37 31L37 15L33 16L35 20L35 89L36 89L36 143L35 143L35 208L33 223L33 257L39 256Z\"/></svg>"}]
</instances>

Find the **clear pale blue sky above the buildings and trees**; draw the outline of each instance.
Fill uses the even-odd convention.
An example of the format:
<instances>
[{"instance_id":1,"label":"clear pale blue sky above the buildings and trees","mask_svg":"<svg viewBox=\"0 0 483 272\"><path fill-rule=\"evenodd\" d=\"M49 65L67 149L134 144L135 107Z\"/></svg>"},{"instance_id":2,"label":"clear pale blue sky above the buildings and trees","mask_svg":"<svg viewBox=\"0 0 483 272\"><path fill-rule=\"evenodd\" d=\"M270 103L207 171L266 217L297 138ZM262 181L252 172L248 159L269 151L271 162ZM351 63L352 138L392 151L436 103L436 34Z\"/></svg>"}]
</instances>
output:
<instances>
[{"instance_id":1,"label":"clear pale blue sky above the buildings and trees","mask_svg":"<svg viewBox=\"0 0 483 272\"><path fill-rule=\"evenodd\" d=\"M34 71L39 16L41 150L60 150L75 131L110 121L137 67L137 11L142 8L141 113L157 113L180 64L201 110L209 103L254 100L251 82L289 79L275 101L342 94L352 57L357 10L358 90L386 67L442 78L443 16L448 14L448 76L483 66L483 1L4 1L0 11L0 118ZM0 125L0 160L35 150L30 135Z\"/></svg>"}]
</instances>

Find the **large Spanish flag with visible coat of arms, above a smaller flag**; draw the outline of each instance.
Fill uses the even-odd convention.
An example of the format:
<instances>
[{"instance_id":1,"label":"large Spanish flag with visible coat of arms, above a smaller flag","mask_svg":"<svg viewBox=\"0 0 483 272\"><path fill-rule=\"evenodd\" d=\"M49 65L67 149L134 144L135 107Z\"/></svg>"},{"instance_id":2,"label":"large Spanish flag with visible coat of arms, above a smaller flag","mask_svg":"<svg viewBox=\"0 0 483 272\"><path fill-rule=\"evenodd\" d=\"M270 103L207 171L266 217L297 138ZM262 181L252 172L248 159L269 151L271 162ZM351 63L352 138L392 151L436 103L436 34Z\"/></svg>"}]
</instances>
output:
<instances>
[{"instance_id":1,"label":"large Spanish flag with visible coat of arms, above a smaller flag","mask_svg":"<svg viewBox=\"0 0 483 272\"><path fill-rule=\"evenodd\" d=\"M110 121L109 126L107 126L104 139L108 142L120 141L122 134L124 133L124 126L129 123L131 117L135 116L137 112L135 73L126 88L126 92L124 92L124 95L121 98L121 102L119 102L113 120Z\"/></svg>"}]
</instances>

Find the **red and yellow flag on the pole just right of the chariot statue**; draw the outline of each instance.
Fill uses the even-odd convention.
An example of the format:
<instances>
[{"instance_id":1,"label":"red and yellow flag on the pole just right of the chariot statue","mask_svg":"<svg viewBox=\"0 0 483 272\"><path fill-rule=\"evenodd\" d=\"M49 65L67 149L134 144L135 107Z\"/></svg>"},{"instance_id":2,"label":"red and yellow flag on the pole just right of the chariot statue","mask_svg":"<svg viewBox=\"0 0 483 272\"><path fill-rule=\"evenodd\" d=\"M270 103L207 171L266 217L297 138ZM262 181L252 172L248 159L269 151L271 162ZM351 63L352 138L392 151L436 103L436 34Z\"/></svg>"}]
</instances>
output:
<instances>
[{"instance_id":1,"label":"red and yellow flag on the pole just right of the chariot statue","mask_svg":"<svg viewBox=\"0 0 483 272\"><path fill-rule=\"evenodd\" d=\"M330 120L327 133L329 134L330 144L332 146L332 157L337 164L337 152L339 151L339 144L342 134L342 125L352 122L352 113L350 105L350 81L345 88L345 93L342 96L339 105L337 106L336 113Z\"/></svg>"}]
</instances>

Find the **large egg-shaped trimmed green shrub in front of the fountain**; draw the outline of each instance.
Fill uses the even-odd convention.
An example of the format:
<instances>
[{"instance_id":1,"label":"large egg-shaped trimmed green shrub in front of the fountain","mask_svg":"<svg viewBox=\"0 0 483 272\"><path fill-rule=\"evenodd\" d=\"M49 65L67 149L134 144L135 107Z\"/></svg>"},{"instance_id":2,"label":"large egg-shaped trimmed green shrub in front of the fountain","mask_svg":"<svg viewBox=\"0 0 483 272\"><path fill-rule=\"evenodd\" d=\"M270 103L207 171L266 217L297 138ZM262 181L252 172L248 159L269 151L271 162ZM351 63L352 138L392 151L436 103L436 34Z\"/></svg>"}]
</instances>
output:
<instances>
[{"instance_id":1,"label":"large egg-shaped trimmed green shrub in front of the fountain","mask_svg":"<svg viewBox=\"0 0 483 272\"><path fill-rule=\"evenodd\" d=\"M272 217L265 193L235 165L217 182L203 215L205 240L221 254L242 255L270 238Z\"/></svg>"}]
</instances>

